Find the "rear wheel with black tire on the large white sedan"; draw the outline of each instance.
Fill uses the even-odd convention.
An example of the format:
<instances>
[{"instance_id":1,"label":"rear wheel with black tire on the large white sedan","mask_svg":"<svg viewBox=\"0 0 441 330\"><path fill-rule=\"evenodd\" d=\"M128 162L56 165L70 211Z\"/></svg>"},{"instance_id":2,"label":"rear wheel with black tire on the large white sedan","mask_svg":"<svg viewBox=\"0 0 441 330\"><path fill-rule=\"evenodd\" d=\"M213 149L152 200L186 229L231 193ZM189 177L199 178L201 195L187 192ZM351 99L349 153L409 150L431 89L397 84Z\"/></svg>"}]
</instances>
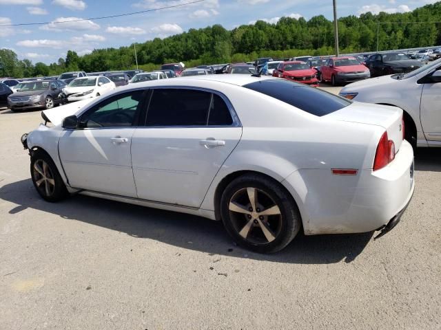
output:
<instances>
[{"instance_id":1,"label":"rear wheel with black tire on the large white sedan","mask_svg":"<svg viewBox=\"0 0 441 330\"><path fill-rule=\"evenodd\" d=\"M257 199L254 212L249 212L253 205L249 191L254 191ZM246 204L246 201L249 203ZM240 210L232 210L235 207ZM276 211L265 214L270 209ZM220 214L225 230L234 241L258 253L278 252L285 248L294 239L302 223L296 202L289 192L277 181L254 173L234 179L225 188L220 199Z\"/></svg>"}]
</instances>

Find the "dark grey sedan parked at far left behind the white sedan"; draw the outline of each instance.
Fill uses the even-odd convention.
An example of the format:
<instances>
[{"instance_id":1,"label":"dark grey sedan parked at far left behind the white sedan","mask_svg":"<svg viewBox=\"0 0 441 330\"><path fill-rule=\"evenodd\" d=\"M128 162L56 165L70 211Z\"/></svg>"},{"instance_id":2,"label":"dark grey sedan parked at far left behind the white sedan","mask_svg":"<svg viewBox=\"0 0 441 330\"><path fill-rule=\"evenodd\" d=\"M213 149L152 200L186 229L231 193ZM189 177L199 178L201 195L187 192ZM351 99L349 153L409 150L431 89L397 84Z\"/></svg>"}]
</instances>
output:
<instances>
[{"instance_id":1,"label":"dark grey sedan parked at far left behind the white sedan","mask_svg":"<svg viewBox=\"0 0 441 330\"><path fill-rule=\"evenodd\" d=\"M59 80L35 80L25 82L20 90L8 96L8 107L12 111L23 109L50 109L65 102L61 91L65 83Z\"/></svg>"}]
</instances>

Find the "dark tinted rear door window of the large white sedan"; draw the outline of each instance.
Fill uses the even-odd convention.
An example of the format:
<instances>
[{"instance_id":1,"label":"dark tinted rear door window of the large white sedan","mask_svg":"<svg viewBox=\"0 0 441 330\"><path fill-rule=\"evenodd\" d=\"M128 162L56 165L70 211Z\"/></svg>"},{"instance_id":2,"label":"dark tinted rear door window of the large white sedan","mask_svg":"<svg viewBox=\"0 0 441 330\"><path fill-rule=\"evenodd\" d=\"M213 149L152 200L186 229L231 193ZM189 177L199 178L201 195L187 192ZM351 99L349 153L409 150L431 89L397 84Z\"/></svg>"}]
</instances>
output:
<instances>
[{"instance_id":1,"label":"dark tinted rear door window of the large white sedan","mask_svg":"<svg viewBox=\"0 0 441 330\"><path fill-rule=\"evenodd\" d=\"M217 94L194 89L154 89L146 126L232 125L227 104Z\"/></svg>"}]
</instances>

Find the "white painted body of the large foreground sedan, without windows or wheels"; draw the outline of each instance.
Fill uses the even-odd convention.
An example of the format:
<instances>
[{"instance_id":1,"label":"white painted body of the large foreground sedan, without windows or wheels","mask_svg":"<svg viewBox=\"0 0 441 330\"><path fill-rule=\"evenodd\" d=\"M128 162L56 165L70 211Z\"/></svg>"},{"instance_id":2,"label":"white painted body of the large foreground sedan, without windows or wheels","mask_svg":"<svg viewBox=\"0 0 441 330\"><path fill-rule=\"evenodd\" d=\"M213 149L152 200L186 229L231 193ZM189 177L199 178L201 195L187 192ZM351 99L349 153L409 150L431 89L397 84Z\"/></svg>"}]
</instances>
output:
<instances>
[{"instance_id":1,"label":"white painted body of the large foreground sedan, without windows or wheels","mask_svg":"<svg viewBox=\"0 0 441 330\"><path fill-rule=\"evenodd\" d=\"M52 157L70 192L209 219L219 219L216 189L224 179L241 171L262 173L294 198L308 235L378 230L407 206L414 189L413 150L402 140L401 109L347 104L318 90L347 104L318 116L243 87L269 80L285 81L207 75L127 85L79 107L43 111L55 126L41 124L29 133L27 146L31 153L41 148ZM80 118L112 96L161 88L217 94L228 104L234 122L74 130L61 126L65 116ZM296 88L316 93L311 87ZM385 132L395 144L395 159L373 170ZM111 143L114 139L118 143ZM335 169L351 169L353 175L338 175L345 173Z\"/></svg>"}]
</instances>

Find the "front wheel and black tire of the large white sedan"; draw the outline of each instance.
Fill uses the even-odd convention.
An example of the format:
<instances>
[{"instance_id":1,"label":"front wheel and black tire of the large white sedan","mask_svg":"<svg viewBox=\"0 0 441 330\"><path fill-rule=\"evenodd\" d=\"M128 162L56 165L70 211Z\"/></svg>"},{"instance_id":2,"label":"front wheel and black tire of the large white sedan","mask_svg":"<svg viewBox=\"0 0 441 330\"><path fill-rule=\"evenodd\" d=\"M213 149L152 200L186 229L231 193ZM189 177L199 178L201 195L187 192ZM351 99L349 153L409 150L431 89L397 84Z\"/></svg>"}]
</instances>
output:
<instances>
[{"instance_id":1,"label":"front wheel and black tire of the large white sedan","mask_svg":"<svg viewBox=\"0 0 441 330\"><path fill-rule=\"evenodd\" d=\"M57 166L48 154L37 151L32 155L30 175L35 189L45 201L61 201L68 196L68 190Z\"/></svg>"}]
</instances>

